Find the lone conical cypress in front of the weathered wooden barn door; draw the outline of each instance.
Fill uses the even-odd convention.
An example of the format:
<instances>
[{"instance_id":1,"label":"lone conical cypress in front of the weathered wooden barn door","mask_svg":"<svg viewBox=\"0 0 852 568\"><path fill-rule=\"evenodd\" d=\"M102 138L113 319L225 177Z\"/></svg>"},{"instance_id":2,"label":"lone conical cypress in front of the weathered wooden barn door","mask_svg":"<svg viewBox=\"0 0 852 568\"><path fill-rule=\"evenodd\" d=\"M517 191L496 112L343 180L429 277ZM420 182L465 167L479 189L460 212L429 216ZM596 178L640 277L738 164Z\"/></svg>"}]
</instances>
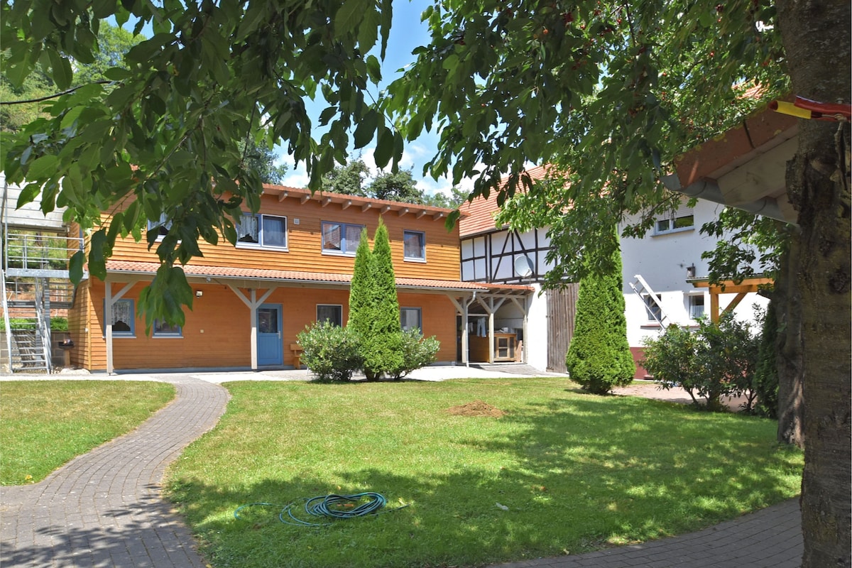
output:
<instances>
[{"instance_id":1,"label":"lone conical cypress in front of the weathered wooden barn door","mask_svg":"<svg viewBox=\"0 0 852 568\"><path fill-rule=\"evenodd\" d=\"M613 238L618 238L614 229ZM610 272L592 273L580 281L574 335L566 357L571 379L596 394L630 384L636 373L627 342L618 246L611 265Z\"/></svg>"}]
</instances>

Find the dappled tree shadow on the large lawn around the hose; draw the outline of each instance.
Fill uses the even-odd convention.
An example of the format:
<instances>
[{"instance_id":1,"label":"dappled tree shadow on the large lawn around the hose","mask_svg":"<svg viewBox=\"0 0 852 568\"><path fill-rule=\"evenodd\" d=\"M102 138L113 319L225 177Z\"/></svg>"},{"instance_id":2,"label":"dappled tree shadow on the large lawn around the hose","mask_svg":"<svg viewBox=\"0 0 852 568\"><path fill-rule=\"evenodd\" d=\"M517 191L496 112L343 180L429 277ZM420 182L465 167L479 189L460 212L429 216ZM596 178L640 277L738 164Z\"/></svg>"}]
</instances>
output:
<instances>
[{"instance_id":1,"label":"dappled tree shadow on the large lawn around the hose","mask_svg":"<svg viewBox=\"0 0 852 568\"><path fill-rule=\"evenodd\" d=\"M482 565L648 541L732 519L792 496L801 464L797 452L774 445L771 422L642 399L521 404L484 432L465 421L495 419L446 420L458 424L450 446L500 456L503 465L459 461L438 474L425 464L422 475L404 475L342 462L335 475L343 482L335 486L320 474L292 472L235 479L229 487L178 479L173 498L216 568ZM400 469L411 470L417 449L399 457L407 464ZM388 508L409 507L323 528L277 519L277 506L288 502L360 491L382 493ZM244 509L243 519L234 519L234 509L251 502L276 507Z\"/></svg>"}]
</instances>

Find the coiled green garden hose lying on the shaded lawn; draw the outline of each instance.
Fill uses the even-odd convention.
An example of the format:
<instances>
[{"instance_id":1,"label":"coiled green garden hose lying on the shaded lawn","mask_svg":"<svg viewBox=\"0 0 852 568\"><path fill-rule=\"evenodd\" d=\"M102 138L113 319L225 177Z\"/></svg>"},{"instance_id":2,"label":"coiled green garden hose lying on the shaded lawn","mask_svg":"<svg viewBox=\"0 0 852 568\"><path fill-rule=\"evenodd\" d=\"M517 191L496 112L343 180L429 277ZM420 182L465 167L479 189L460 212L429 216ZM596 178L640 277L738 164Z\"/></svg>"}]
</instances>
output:
<instances>
[{"instance_id":1,"label":"coiled green garden hose lying on the shaded lawn","mask_svg":"<svg viewBox=\"0 0 852 568\"><path fill-rule=\"evenodd\" d=\"M357 504L364 499L367 499L367 501ZM308 515L308 519L325 517L331 519L333 522L335 519L355 519L368 514L387 513L388 511L396 511L408 507L408 505L402 505L401 507L382 511L381 509L384 508L387 502L387 499L381 493L374 493L372 491L355 493L354 495L337 495L332 493L330 495L296 499L296 501L291 501L284 506L267 502L248 503L247 505L238 507L233 512L233 516L235 519L241 519L239 512L247 507L280 507L278 519L285 525L325 526L331 525L331 522L317 523L311 520L299 519L293 514L293 511L298 510L298 506L303 503L304 512Z\"/></svg>"}]
</instances>

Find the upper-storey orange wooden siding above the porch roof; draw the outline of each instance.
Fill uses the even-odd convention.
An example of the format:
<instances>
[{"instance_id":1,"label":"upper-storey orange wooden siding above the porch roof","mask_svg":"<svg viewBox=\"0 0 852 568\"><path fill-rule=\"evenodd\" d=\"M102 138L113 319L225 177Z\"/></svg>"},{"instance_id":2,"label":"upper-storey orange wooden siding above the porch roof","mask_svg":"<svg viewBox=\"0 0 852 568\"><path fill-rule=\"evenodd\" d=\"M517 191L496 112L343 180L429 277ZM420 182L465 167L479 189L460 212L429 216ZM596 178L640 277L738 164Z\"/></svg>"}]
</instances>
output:
<instances>
[{"instance_id":1,"label":"upper-storey orange wooden siding above the porch roof","mask_svg":"<svg viewBox=\"0 0 852 568\"><path fill-rule=\"evenodd\" d=\"M351 274L354 256L330 255L322 251L323 221L364 225L372 238L381 212L377 208L362 211L353 204L343 209L341 204L327 204L311 199L301 203L299 198L279 200L264 195L260 212L287 219L287 250L235 247L222 238L217 245L200 242L204 254L192 264L215 267L268 268L299 272ZM399 215L389 211L383 216L388 227L394 270L400 278L433 278L458 280L458 225L447 231L444 219L415 213ZM296 222L298 224L296 224ZM426 261L406 261L403 258L403 231L419 231L426 236ZM157 261L156 246L147 250L147 242L135 243L132 238L118 239L112 251L116 261Z\"/></svg>"}]
</instances>

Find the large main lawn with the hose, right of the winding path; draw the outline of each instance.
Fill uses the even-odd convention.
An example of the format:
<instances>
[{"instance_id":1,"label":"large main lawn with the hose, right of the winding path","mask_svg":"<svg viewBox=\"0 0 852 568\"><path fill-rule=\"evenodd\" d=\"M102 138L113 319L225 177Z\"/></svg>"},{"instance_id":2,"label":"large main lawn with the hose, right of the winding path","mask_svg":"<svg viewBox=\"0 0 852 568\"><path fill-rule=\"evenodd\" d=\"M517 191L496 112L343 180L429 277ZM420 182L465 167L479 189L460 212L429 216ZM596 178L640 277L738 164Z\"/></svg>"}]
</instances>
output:
<instances>
[{"instance_id":1,"label":"large main lawn with the hose, right of the winding path","mask_svg":"<svg viewBox=\"0 0 852 568\"><path fill-rule=\"evenodd\" d=\"M775 423L579 393L561 378L233 382L227 414L170 468L215 568L473 566L715 524L796 496ZM481 400L502 417L457 416ZM377 491L396 511L312 528L281 506ZM274 507L243 509L252 502ZM508 510L504 510L502 505Z\"/></svg>"}]
</instances>

